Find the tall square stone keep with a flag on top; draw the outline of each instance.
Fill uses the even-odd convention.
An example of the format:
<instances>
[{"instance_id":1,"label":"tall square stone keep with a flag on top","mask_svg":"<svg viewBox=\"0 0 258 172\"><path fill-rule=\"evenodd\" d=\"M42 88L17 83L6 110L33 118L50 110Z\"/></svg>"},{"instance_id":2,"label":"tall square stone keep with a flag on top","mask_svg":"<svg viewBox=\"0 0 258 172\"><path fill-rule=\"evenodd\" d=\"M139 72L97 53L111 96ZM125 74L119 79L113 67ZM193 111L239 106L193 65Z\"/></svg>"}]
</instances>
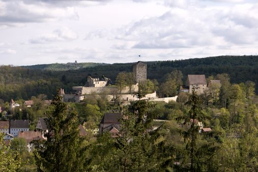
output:
<instances>
[{"instance_id":1,"label":"tall square stone keep with a flag on top","mask_svg":"<svg viewBox=\"0 0 258 172\"><path fill-rule=\"evenodd\" d=\"M137 83L147 79L147 64L138 61L133 65L134 78Z\"/></svg>"}]
</instances>

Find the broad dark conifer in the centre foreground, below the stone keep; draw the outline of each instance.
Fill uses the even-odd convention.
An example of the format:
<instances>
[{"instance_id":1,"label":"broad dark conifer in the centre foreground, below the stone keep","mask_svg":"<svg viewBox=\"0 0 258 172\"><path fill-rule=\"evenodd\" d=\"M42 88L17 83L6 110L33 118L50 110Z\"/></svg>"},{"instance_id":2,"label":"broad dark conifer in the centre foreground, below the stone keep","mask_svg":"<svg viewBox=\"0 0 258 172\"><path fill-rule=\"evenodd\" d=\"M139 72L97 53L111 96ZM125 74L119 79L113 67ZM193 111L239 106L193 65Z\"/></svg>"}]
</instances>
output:
<instances>
[{"instance_id":1,"label":"broad dark conifer in the centre foreground, below the stone keep","mask_svg":"<svg viewBox=\"0 0 258 172\"><path fill-rule=\"evenodd\" d=\"M143 98L142 95L137 95ZM118 172L160 172L166 169L171 157L164 156L164 140L160 141L159 129L151 131L157 114L146 100L132 103L122 112L120 136L115 141L114 169Z\"/></svg>"}]
</instances>

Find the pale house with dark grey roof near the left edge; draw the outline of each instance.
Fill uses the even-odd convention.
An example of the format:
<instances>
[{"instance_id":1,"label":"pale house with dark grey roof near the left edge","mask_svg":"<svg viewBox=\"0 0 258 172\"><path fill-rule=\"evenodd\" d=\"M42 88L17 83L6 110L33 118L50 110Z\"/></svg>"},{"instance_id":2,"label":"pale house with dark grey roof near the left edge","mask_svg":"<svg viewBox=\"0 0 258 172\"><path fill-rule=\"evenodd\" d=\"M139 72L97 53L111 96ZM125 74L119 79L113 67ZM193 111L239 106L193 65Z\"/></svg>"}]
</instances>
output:
<instances>
[{"instance_id":1,"label":"pale house with dark grey roof near the left edge","mask_svg":"<svg viewBox=\"0 0 258 172\"><path fill-rule=\"evenodd\" d=\"M29 120L10 120L9 134L13 135L14 137L17 137L19 131L29 131Z\"/></svg>"}]
</instances>

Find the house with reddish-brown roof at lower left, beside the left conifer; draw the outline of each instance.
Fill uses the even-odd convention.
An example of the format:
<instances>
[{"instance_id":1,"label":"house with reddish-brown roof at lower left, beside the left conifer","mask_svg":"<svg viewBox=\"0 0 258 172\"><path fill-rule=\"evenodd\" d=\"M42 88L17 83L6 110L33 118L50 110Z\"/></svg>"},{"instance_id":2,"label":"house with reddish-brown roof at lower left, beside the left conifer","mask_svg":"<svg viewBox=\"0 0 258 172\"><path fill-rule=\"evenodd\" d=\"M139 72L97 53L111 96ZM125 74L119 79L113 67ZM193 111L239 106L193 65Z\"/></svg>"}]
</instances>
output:
<instances>
[{"instance_id":1,"label":"house with reddish-brown roof at lower left, beside the left conifer","mask_svg":"<svg viewBox=\"0 0 258 172\"><path fill-rule=\"evenodd\" d=\"M44 139L42 133L39 131L20 131L18 132L18 138L24 138L26 140L29 152L33 150L33 140Z\"/></svg>"}]
</instances>

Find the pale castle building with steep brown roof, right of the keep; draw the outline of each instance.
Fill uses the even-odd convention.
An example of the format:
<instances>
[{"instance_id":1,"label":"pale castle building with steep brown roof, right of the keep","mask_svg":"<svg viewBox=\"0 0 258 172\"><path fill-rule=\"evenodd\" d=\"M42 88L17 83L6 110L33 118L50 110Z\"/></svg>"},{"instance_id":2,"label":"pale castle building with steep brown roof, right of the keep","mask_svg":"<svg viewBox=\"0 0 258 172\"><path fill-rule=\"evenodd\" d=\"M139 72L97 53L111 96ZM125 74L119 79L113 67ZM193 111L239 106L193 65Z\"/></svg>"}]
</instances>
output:
<instances>
[{"instance_id":1,"label":"pale castle building with steep brown roof, right of the keep","mask_svg":"<svg viewBox=\"0 0 258 172\"><path fill-rule=\"evenodd\" d=\"M198 95L203 94L207 87L205 75L188 75L186 86L189 87L190 94L193 92L193 89Z\"/></svg>"}]
</instances>

